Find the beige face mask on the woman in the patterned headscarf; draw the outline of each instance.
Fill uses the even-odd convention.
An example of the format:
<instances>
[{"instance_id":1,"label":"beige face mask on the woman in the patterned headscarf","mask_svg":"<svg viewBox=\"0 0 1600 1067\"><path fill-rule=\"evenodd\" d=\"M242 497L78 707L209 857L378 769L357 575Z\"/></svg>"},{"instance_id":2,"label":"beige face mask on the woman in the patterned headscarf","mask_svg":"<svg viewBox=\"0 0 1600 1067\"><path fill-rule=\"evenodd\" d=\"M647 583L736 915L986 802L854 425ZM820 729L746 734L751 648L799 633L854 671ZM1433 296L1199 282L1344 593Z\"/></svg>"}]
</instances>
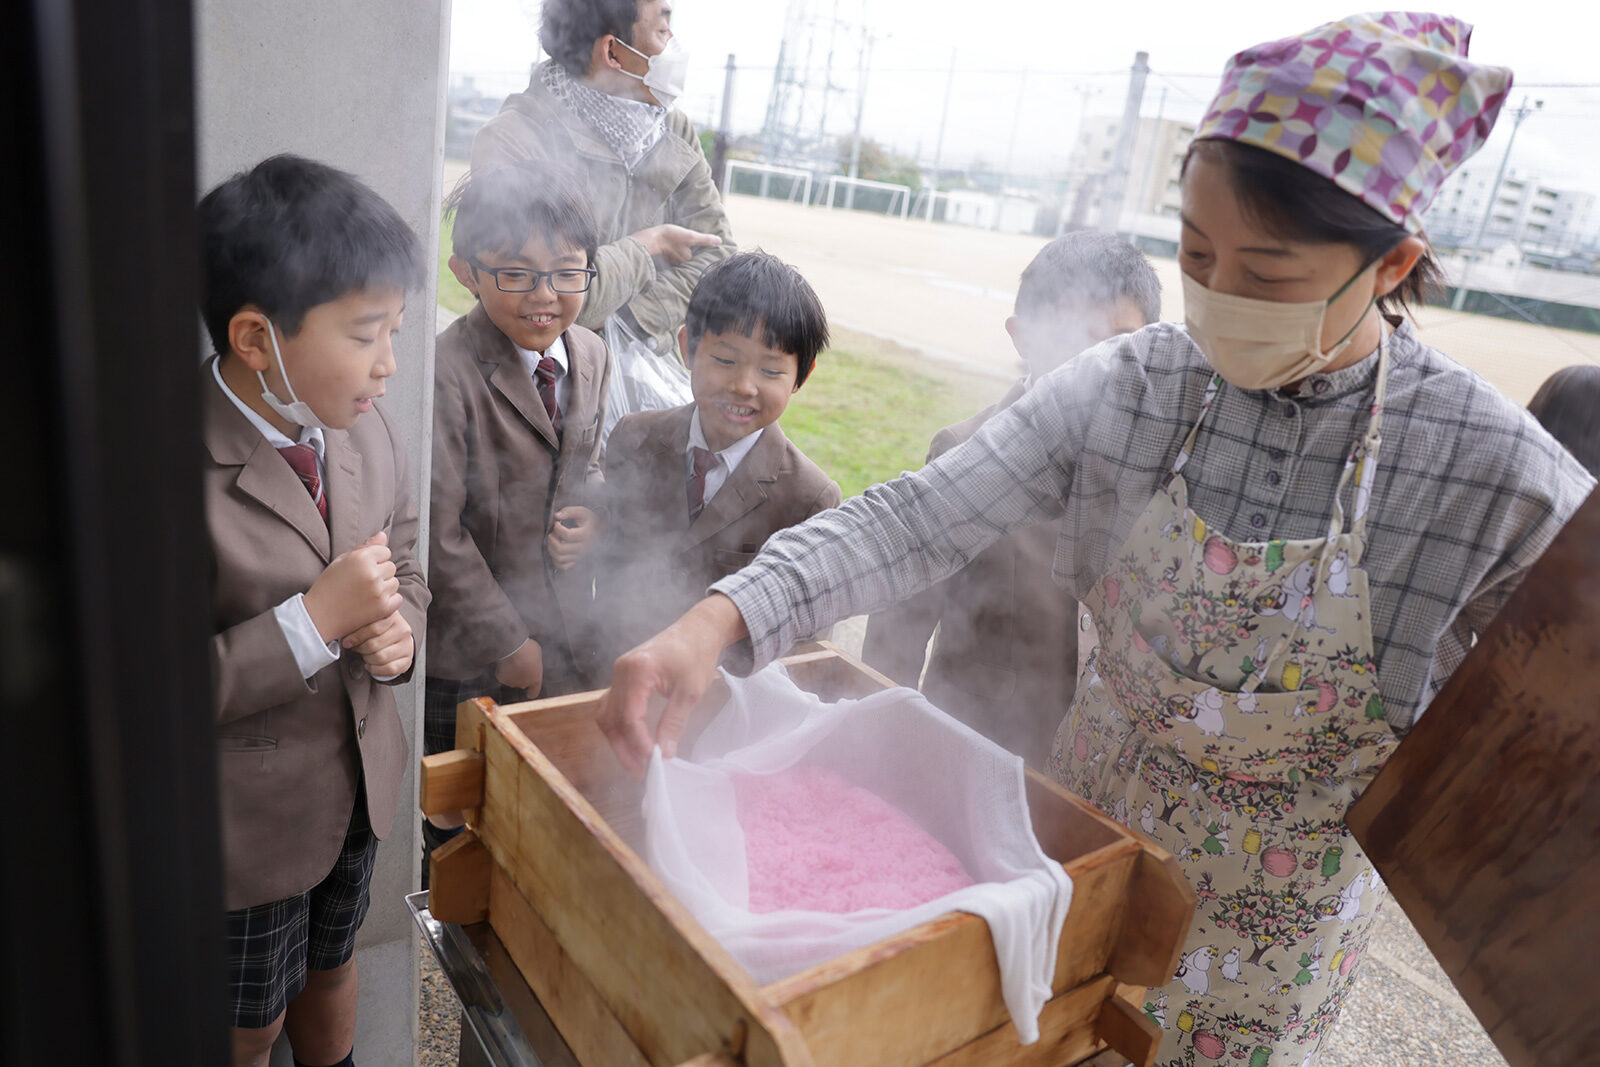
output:
<instances>
[{"instance_id":1,"label":"beige face mask on the woman in the patterned headscarf","mask_svg":"<svg viewBox=\"0 0 1600 1067\"><path fill-rule=\"evenodd\" d=\"M1363 274L1366 267L1355 278ZM1366 310L1326 352L1322 350L1322 320L1355 278L1325 301L1282 304L1213 293L1186 274L1184 325L1206 362L1227 382L1240 389L1277 389L1315 374L1350 347Z\"/></svg>"}]
</instances>

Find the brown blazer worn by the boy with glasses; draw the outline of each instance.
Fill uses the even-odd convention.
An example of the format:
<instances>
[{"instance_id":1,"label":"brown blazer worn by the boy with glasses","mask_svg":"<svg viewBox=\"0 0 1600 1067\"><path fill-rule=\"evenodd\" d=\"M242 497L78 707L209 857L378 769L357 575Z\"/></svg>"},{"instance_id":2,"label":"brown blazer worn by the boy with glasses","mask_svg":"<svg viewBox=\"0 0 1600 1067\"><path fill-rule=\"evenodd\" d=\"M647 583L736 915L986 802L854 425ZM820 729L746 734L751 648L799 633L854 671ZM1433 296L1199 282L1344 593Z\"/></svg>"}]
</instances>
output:
<instances>
[{"instance_id":1,"label":"brown blazer worn by the boy with glasses","mask_svg":"<svg viewBox=\"0 0 1600 1067\"><path fill-rule=\"evenodd\" d=\"M530 637L544 648L546 696L571 691L587 670L594 565L555 569L544 537L555 512L597 502L610 365L589 330L562 339L571 390L557 442L533 376L482 304L438 334L429 677L477 678Z\"/></svg>"}]
</instances>

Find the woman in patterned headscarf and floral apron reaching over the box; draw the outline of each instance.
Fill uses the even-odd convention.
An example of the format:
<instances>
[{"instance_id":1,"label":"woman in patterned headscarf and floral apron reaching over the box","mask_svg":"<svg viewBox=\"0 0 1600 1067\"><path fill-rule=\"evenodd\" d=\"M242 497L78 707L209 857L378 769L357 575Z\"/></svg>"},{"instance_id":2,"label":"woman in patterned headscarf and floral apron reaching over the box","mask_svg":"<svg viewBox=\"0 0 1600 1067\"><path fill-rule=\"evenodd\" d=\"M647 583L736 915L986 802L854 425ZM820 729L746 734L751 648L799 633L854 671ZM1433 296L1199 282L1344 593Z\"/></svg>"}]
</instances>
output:
<instances>
[{"instance_id":1,"label":"woman in patterned headscarf and floral apron reaching over the box","mask_svg":"<svg viewBox=\"0 0 1600 1067\"><path fill-rule=\"evenodd\" d=\"M1202 897L1157 1062L1315 1059L1382 899L1344 811L1594 488L1398 314L1432 270L1422 211L1510 86L1469 34L1352 16L1234 56L1182 174L1186 325L1080 354L768 541L618 661L622 760L653 693L670 755L725 648L762 667L1059 507L1056 579L1101 648L1048 769Z\"/></svg>"}]
</instances>

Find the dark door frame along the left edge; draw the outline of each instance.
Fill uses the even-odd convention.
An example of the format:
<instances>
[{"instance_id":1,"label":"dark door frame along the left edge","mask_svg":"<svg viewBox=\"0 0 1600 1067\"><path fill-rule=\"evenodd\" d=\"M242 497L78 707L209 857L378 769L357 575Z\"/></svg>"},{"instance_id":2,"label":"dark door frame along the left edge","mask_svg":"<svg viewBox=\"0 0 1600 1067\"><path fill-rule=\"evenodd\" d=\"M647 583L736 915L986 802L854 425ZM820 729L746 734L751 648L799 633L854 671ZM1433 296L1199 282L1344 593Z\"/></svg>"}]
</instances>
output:
<instances>
[{"instance_id":1,"label":"dark door frame along the left edge","mask_svg":"<svg viewBox=\"0 0 1600 1067\"><path fill-rule=\"evenodd\" d=\"M186 0L6 37L3 1057L226 1064Z\"/></svg>"}]
</instances>

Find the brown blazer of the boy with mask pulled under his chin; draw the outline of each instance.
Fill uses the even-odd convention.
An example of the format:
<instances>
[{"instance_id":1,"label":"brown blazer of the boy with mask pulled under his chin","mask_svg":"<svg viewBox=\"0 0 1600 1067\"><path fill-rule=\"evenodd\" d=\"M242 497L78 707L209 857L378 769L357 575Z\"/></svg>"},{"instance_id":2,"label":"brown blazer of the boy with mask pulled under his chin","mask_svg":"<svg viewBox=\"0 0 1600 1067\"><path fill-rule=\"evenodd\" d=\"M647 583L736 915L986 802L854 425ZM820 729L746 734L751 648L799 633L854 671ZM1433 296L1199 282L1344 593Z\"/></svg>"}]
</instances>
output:
<instances>
[{"instance_id":1,"label":"brown blazer of the boy with mask pulled under his chin","mask_svg":"<svg viewBox=\"0 0 1600 1067\"><path fill-rule=\"evenodd\" d=\"M357 787L382 838L394 825L406 741L392 685L346 651L301 677L272 609L334 557L384 531L400 613L418 648L427 587L405 445L382 410L323 430L328 523L294 470L202 371L205 514L211 537L211 686L229 910L304 893L333 870Z\"/></svg>"}]
</instances>

